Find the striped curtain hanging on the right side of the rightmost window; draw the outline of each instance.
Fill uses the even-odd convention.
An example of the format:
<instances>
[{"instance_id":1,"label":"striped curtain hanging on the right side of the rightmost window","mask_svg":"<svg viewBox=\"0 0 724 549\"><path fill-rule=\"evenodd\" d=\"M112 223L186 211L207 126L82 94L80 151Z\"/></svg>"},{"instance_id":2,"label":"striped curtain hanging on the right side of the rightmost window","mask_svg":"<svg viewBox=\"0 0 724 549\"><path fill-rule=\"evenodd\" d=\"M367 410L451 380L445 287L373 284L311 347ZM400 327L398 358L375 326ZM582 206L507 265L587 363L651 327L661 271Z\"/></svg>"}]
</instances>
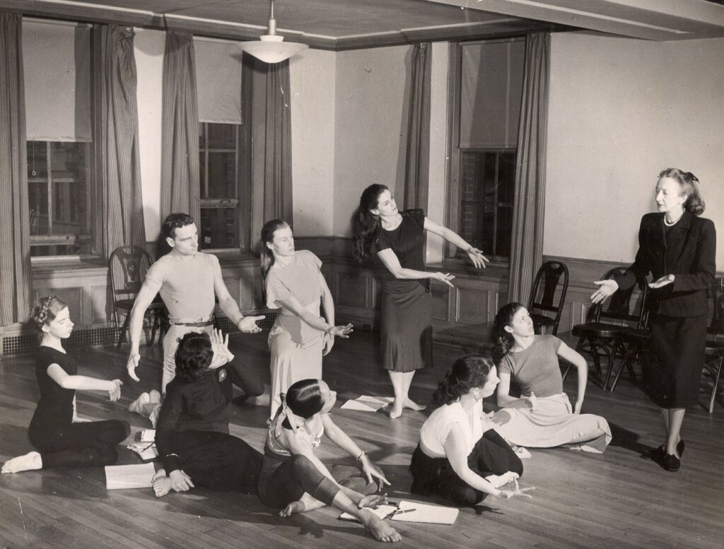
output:
<instances>
[{"instance_id":1,"label":"striped curtain hanging on the right side of the rightmost window","mask_svg":"<svg viewBox=\"0 0 724 549\"><path fill-rule=\"evenodd\" d=\"M527 303L543 259L550 33L529 34L515 163L508 301Z\"/></svg>"}]
</instances>

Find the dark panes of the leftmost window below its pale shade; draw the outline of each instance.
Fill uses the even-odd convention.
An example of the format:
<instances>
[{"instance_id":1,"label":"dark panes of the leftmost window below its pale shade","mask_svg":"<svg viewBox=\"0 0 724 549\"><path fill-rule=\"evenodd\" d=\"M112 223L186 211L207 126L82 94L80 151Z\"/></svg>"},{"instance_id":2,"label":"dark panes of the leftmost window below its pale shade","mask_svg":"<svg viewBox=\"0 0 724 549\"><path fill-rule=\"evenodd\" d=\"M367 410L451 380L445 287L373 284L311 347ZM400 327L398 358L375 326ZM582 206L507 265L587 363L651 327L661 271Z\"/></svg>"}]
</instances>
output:
<instances>
[{"instance_id":1,"label":"dark panes of the leftmost window below its pale shade","mask_svg":"<svg viewBox=\"0 0 724 549\"><path fill-rule=\"evenodd\" d=\"M30 255L90 253L88 143L28 141Z\"/></svg>"}]
</instances>

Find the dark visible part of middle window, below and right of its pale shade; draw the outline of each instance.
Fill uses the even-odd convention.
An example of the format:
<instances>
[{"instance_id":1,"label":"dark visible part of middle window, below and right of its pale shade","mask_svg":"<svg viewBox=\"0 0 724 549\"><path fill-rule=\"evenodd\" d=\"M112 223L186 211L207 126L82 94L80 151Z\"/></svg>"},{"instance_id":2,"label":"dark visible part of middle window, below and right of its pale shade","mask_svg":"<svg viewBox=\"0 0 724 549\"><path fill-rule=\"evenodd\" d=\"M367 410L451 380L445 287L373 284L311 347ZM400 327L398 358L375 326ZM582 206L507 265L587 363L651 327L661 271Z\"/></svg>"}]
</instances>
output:
<instances>
[{"instance_id":1,"label":"dark visible part of middle window, below and right of its pale shade","mask_svg":"<svg viewBox=\"0 0 724 549\"><path fill-rule=\"evenodd\" d=\"M249 70L245 62L240 82L242 123L199 123L199 241L203 250L250 249L251 124L244 123L251 121Z\"/></svg>"}]
</instances>

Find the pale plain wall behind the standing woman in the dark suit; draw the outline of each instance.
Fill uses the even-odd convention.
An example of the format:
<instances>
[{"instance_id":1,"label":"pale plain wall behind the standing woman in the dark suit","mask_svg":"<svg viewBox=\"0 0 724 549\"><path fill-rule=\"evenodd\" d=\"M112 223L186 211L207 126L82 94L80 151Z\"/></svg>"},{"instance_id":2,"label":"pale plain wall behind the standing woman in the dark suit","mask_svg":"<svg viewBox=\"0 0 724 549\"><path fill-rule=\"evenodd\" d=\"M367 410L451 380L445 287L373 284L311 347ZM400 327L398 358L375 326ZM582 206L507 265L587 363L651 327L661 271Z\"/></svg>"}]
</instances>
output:
<instances>
[{"instance_id":1,"label":"pale plain wall behind the standing woman in the dark suit","mask_svg":"<svg viewBox=\"0 0 724 549\"><path fill-rule=\"evenodd\" d=\"M552 36L545 255L633 261L667 167L699 177L703 217L724 234L723 57L721 38Z\"/></svg>"}]
</instances>

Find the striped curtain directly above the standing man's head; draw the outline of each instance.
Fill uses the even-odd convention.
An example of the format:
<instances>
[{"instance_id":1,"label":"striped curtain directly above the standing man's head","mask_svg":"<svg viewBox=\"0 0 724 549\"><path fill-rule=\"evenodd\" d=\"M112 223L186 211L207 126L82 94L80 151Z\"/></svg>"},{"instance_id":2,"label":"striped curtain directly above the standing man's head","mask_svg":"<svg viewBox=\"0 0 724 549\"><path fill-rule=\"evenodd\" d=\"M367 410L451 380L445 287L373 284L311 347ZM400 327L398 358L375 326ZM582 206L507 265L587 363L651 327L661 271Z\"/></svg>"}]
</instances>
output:
<instances>
[{"instance_id":1,"label":"striped curtain directly above the standing man's head","mask_svg":"<svg viewBox=\"0 0 724 549\"><path fill-rule=\"evenodd\" d=\"M161 220L169 213L185 212L198 222L198 104L191 33L166 33L163 94Z\"/></svg>"}]
</instances>

